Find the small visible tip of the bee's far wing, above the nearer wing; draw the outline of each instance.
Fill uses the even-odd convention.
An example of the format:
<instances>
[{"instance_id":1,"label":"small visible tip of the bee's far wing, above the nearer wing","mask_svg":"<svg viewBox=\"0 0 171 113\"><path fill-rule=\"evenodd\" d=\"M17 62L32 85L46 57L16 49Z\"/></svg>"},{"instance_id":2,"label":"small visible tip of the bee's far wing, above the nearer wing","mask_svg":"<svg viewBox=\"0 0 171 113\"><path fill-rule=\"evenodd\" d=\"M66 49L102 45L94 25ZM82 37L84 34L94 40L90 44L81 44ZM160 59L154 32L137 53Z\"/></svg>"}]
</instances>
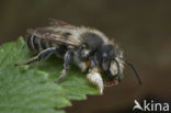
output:
<instances>
[{"instance_id":1,"label":"small visible tip of the bee's far wing, above the nearer wing","mask_svg":"<svg viewBox=\"0 0 171 113\"><path fill-rule=\"evenodd\" d=\"M65 26L65 27L76 27L75 25L71 25L71 24L69 24L69 23L67 23L67 22L64 22L64 21L61 21L61 20L55 20L55 19L49 19L49 24L50 25L55 25L55 26Z\"/></svg>"}]
</instances>

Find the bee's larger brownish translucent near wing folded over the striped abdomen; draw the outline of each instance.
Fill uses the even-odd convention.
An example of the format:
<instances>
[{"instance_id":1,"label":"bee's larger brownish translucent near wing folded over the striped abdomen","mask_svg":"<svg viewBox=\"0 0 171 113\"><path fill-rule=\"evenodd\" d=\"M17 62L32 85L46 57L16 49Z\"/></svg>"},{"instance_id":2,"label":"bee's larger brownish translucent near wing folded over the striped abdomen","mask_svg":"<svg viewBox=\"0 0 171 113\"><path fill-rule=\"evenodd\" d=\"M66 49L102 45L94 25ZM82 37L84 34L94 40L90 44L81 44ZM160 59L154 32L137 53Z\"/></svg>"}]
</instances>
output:
<instances>
[{"instance_id":1,"label":"bee's larger brownish translucent near wing folded over the striped abdomen","mask_svg":"<svg viewBox=\"0 0 171 113\"><path fill-rule=\"evenodd\" d=\"M35 30L27 30L27 33L31 35L35 35L39 38L52 41L56 44L69 45L72 47L78 47L81 45L81 43L76 38L72 38L67 35L65 36L64 33L61 34L60 32L55 31L55 27L38 27Z\"/></svg>"}]
</instances>

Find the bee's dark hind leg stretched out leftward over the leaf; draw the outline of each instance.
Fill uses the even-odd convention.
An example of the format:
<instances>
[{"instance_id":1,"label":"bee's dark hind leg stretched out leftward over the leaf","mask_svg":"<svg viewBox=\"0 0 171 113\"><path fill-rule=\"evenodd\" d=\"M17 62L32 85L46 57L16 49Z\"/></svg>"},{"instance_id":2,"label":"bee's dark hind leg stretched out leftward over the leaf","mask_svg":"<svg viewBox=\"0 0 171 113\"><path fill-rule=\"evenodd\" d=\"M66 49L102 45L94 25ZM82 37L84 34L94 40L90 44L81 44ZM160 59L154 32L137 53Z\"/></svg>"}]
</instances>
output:
<instances>
[{"instance_id":1,"label":"bee's dark hind leg stretched out leftward over the leaf","mask_svg":"<svg viewBox=\"0 0 171 113\"><path fill-rule=\"evenodd\" d=\"M21 66L21 65L30 65L33 64L35 61L39 61L43 59L48 58L54 52L56 52L58 48L56 47L52 47L52 48L47 48L45 50L42 50L37 56L35 56L34 58L32 58L31 60L24 63L24 64L15 64L15 66Z\"/></svg>"}]
</instances>

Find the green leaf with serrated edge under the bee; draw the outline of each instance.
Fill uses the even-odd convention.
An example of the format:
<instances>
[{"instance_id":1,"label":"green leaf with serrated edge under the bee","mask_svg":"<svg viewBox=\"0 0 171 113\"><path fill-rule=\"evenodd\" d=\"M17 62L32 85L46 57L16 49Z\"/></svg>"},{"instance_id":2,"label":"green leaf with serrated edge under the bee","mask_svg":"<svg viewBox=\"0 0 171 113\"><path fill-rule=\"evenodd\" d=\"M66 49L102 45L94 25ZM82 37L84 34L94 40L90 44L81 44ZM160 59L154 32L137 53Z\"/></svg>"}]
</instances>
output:
<instances>
[{"instance_id":1,"label":"green leaf with serrated edge under the bee","mask_svg":"<svg viewBox=\"0 0 171 113\"><path fill-rule=\"evenodd\" d=\"M67 78L55 83L62 60L53 56L45 61L14 67L32 56L23 38L0 47L0 113L64 113L71 100L86 100L99 94L86 74L72 66Z\"/></svg>"}]
</instances>

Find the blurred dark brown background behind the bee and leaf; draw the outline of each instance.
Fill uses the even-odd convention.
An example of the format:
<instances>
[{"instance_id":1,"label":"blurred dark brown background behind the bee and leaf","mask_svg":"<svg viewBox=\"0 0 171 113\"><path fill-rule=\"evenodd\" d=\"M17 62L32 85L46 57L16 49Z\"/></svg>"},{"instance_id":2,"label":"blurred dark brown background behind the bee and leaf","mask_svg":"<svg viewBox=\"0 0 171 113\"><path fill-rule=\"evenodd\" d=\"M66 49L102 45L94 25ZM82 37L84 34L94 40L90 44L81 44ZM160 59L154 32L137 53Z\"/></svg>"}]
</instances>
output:
<instances>
[{"instance_id":1,"label":"blurred dark brown background behind the bee and leaf","mask_svg":"<svg viewBox=\"0 0 171 113\"><path fill-rule=\"evenodd\" d=\"M29 27L48 25L50 18L103 31L125 50L144 82L138 86L126 67L119 86L73 102L68 113L132 112L135 99L171 102L171 1L1 0L0 44L25 35Z\"/></svg>"}]
</instances>

